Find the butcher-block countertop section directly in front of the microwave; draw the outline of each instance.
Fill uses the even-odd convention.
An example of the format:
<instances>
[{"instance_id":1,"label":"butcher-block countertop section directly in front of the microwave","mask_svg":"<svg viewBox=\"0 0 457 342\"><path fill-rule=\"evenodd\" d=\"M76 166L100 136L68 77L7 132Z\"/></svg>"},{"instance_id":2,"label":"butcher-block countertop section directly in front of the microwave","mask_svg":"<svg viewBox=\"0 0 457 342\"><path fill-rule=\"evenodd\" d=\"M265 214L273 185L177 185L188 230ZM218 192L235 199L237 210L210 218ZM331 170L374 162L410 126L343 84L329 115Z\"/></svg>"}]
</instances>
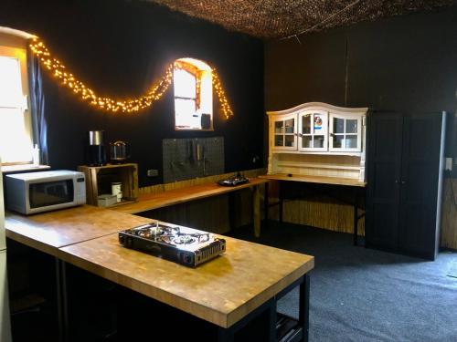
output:
<instances>
[{"instance_id":1,"label":"butcher-block countertop section directly in front of the microwave","mask_svg":"<svg viewBox=\"0 0 457 342\"><path fill-rule=\"evenodd\" d=\"M151 219L90 205L28 216L5 212L7 237L54 256L60 247L148 222Z\"/></svg>"}]
</instances>

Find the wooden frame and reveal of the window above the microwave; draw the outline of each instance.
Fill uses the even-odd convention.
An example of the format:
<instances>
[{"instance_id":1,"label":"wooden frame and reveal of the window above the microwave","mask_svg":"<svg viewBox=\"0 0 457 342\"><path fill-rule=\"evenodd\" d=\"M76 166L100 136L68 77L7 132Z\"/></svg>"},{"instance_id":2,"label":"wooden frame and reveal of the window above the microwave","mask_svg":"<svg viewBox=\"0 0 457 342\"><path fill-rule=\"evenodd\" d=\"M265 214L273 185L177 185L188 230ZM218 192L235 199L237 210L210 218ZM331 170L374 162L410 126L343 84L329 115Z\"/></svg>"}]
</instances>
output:
<instances>
[{"instance_id":1,"label":"wooden frame and reveal of the window above the microwave","mask_svg":"<svg viewBox=\"0 0 457 342\"><path fill-rule=\"evenodd\" d=\"M26 98L23 109L24 124L27 138L30 142L30 160L29 161L3 161L0 165L27 165L32 164L32 146L34 143L32 115L30 111L30 97L28 88L28 70L27 70L27 39L24 37L8 35L0 32L0 56L16 58L19 61L21 74L22 96ZM15 107L16 108L16 107Z\"/></svg>"}]
</instances>

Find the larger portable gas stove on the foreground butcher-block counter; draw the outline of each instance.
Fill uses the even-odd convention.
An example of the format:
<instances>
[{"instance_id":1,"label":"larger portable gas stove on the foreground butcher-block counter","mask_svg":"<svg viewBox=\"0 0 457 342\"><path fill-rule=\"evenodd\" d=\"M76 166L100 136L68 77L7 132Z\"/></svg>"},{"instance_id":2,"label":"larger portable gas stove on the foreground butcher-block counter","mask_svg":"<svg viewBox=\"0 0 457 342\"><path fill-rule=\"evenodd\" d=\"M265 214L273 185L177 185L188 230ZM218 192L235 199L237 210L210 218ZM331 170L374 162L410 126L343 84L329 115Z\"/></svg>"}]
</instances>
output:
<instances>
[{"instance_id":1,"label":"larger portable gas stove on the foreground butcher-block counter","mask_svg":"<svg viewBox=\"0 0 457 342\"><path fill-rule=\"evenodd\" d=\"M158 222L119 232L119 242L124 247L191 267L203 264L226 250L226 241L212 233Z\"/></svg>"}]
</instances>

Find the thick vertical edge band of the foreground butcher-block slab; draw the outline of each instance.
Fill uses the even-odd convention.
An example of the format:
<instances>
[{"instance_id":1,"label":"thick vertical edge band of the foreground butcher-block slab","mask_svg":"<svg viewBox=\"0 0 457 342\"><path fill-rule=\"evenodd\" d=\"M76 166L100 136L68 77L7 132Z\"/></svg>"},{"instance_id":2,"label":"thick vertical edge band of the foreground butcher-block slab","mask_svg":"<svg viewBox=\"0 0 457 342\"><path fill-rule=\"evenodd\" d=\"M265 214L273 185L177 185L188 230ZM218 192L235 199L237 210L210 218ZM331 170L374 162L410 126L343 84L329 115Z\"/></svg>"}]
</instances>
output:
<instances>
[{"instance_id":1,"label":"thick vertical edge band of the foreground butcher-block slab","mask_svg":"<svg viewBox=\"0 0 457 342\"><path fill-rule=\"evenodd\" d=\"M225 328L237 323L241 318L247 316L257 307L261 306L270 298L280 293L288 285L291 285L295 280L311 271L314 268L314 256L308 256L310 256L310 260L302 264L291 274L284 276L282 280L280 280L274 285L271 285L262 293L250 299L250 301L246 302L244 305L239 306L237 309L233 310L228 314L225 314L216 311L208 306L197 304L186 298L182 298L177 295L170 295L168 292L164 290L161 290L152 285L145 284L141 281L132 279L127 275L122 275L116 271L113 271L112 269L103 267L100 264L92 263L83 258L80 258L79 256L69 254L63 249L58 250L58 258L69 264L73 264L94 275L99 275L118 285L127 287L133 291L141 293L142 295L146 295L169 306L173 306L179 310L182 310L190 315L197 316L201 319L206 320L207 322Z\"/></svg>"}]
</instances>

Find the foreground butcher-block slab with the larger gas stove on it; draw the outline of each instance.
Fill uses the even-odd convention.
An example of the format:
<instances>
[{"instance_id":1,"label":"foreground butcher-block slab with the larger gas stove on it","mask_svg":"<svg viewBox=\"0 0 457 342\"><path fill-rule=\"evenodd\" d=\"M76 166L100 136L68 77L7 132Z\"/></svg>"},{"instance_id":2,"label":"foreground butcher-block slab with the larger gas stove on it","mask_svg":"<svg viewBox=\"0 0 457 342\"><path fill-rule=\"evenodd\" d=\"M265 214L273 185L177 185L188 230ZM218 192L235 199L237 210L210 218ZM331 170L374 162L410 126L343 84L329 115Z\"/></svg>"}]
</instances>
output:
<instances>
[{"instance_id":1,"label":"foreground butcher-block slab with the larger gas stove on it","mask_svg":"<svg viewBox=\"0 0 457 342\"><path fill-rule=\"evenodd\" d=\"M59 250L70 264L218 326L228 327L314 268L314 257L229 238L197 268L122 247L110 234Z\"/></svg>"}]
</instances>

